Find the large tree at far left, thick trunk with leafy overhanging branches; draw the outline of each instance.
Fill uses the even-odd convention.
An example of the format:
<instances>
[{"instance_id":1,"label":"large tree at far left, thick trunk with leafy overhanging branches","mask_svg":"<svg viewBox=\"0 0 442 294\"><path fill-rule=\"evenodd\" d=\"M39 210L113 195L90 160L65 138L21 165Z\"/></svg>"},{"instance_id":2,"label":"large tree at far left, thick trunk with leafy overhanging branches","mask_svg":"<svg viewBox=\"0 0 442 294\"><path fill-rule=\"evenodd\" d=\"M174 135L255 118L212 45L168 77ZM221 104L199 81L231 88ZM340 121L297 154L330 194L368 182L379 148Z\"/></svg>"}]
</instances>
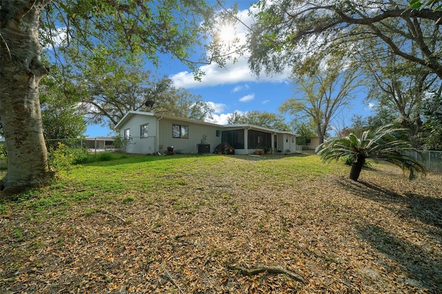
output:
<instances>
[{"instance_id":1,"label":"large tree at far left, thick trunk with leafy overhanging branches","mask_svg":"<svg viewBox=\"0 0 442 294\"><path fill-rule=\"evenodd\" d=\"M0 117L8 148L1 197L46 185L52 177L39 101L39 82L49 69L41 61L40 43L91 55L104 47L114 55L138 55L154 63L161 52L195 68L193 47L204 43L199 34L212 13L202 0L1 1ZM64 43L55 46L62 35Z\"/></svg>"}]
</instances>

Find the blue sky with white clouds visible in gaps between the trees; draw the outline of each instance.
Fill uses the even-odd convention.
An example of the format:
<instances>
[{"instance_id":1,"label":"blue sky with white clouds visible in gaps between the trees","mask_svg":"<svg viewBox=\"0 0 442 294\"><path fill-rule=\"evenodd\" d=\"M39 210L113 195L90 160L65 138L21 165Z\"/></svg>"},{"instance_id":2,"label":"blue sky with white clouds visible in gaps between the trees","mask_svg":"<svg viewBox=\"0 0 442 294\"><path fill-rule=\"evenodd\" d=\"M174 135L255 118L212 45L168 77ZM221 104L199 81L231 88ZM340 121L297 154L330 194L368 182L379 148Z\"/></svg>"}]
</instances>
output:
<instances>
[{"instance_id":1,"label":"blue sky with white clouds visible in gaps between the trees","mask_svg":"<svg viewBox=\"0 0 442 294\"><path fill-rule=\"evenodd\" d=\"M235 1L227 1L227 6L229 7L233 2ZM253 1L238 1L239 17L244 23L250 23L247 10L251 3ZM232 34L231 30L227 30L226 33L229 36ZM246 28L241 25L236 28L239 39L244 39L245 33ZM249 70L247 55L238 57L236 63L227 62L225 68L211 64L201 66L200 69L206 74L202 77L202 81L195 81L189 68L183 66L180 61L165 57L156 72L158 77L168 75L173 79L176 87L186 88L210 103L215 109L213 122L218 124L226 124L227 117L235 111L244 113L258 110L279 114L278 108L281 104L294 97L295 85L288 79L289 70L271 77L262 74L258 79ZM361 95L352 106L336 115L332 126L338 128L342 128L344 124L349 126L354 114L363 117L372 115L371 108L363 104L364 98L365 94L361 91ZM289 119L290 117L287 116L287 121ZM114 133L101 126L88 126L85 135L99 137L114 135Z\"/></svg>"}]
</instances>

